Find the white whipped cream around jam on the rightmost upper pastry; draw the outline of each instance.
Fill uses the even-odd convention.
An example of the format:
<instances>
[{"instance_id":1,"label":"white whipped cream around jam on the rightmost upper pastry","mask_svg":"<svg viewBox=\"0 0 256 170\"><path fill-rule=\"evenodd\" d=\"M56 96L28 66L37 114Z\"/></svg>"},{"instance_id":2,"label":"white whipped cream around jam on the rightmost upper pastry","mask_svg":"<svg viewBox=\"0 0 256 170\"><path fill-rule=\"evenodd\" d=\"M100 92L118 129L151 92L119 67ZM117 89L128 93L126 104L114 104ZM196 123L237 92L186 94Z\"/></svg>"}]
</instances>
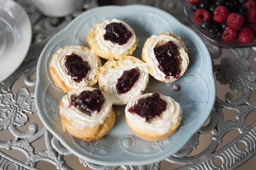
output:
<instances>
[{"instance_id":1,"label":"white whipped cream around jam on the rightmost upper pastry","mask_svg":"<svg viewBox=\"0 0 256 170\"><path fill-rule=\"evenodd\" d=\"M162 41L168 42L172 41L177 47L179 48L180 52L180 58L182 59L181 65L182 69L180 70L180 77L183 76L185 71L188 68L189 65L189 57L188 54L185 52L185 47L183 47L180 43L180 40L176 39L175 37L170 36L168 33L161 34L161 35L152 35L150 37L150 42L147 43L147 45L144 47L144 57L147 60L147 65L150 66L153 69L154 78L160 81L164 82L174 82L176 78L170 76L170 79L166 79L166 75L160 71L158 68L159 62L157 61L157 58L154 54L154 48L156 45L161 44Z\"/></svg>"}]
</instances>

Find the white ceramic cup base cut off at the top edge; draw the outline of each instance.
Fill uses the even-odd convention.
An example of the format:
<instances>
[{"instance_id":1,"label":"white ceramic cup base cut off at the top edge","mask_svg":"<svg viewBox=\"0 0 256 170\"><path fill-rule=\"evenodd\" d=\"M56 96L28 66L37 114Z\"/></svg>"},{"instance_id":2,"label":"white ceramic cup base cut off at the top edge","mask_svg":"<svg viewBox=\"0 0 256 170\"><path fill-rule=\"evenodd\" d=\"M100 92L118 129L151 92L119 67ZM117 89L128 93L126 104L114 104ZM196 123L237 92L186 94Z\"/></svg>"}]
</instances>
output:
<instances>
[{"instance_id":1,"label":"white ceramic cup base cut off at the top edge","mask_svg":"<svg viewBox=\"0 0 256 170\"><path fill-rule=\"evenodd\" d=\"M63 17L75 11L84 0L31 0L33 5L49 17Z\"/></svg>"}]
</instances>

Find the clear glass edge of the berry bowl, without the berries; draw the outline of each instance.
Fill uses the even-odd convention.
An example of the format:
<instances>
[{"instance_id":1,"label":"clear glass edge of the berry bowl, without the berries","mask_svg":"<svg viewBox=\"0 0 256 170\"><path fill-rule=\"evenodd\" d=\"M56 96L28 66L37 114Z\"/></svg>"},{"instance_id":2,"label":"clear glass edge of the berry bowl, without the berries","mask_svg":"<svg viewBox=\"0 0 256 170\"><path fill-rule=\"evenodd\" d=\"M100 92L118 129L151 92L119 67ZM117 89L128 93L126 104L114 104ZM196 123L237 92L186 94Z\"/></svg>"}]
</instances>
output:
<instances>
[{"instance_id":1,"label":"clear glass edge of the berry bowl, without the berries","mask_svg":"<svg viewBox=\"0 0 256 170\"><path fill-rule=\"evenodd\" d=\"M183 8L184 12L186 14L186 17L188 18L189 22L192 24L192 26L198 31L200 34L202 34L204 37L206 37L210 42L214 43L215 45L225 47L225 48L248 48L248 47L255 47L256 46L256 39L253 40L252 43L245 43L241 44L238 40L233 42L225 42L221 38L214 37L210 34L208 34L208 31L204 31L200 28L200 24L195 21L195 12L191 10L192 4L189 2L189 0L183 0Z\"/></svg>"}]
</instances>

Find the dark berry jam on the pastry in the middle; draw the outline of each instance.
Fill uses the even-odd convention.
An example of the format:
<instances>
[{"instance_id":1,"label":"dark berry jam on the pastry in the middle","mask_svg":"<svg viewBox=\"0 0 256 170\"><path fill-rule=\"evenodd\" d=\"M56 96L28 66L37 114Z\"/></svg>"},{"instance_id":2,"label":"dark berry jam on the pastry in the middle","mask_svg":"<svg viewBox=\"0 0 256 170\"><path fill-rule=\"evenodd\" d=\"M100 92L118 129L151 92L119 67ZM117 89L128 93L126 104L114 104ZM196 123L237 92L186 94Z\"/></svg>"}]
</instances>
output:
<instances>
[{"instance_id":1,"label":"dark berry jam on the pastry in the middle","mask_svg":"<svg viewBox=\"0 0 256 170\"><path fill-rule=\"evenodd\" d=\"M125 94L131 90L132 86L140 77L140 72L135 68L131 70L124 71L122 76L117 79L116 91L118 94Z\"/></svg>"}]
</instances>

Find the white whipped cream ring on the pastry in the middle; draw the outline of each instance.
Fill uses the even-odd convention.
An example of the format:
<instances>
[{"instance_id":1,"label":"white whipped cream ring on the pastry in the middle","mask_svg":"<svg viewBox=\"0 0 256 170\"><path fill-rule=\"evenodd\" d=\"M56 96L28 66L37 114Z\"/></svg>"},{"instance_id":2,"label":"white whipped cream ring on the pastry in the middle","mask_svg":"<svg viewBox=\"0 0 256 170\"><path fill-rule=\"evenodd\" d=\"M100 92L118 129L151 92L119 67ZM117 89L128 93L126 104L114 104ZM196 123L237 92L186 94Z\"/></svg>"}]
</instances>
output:
<instances>
[{"instance_id":1,"label":"white whipped cream ring on the pastry in the middle","mask_svg":"<svg viewBox=\"0 0 256 170\"><path fill-rule=\"evenodd\" d=\"M146 63L134 63L130 59L119 59L119 61L120 60L123 60L123 62L119 62L120 64L117 66L116 69L108 68L108 70L106 70L106 68L103 66L103 71L107 73L99 75L99 86L104 89L105 97L113 101L114 105L126 105L129 99L133 99L134 97L142 94L147 87L147 82L149 78ZM132 68L140 70L139 79L137 80L137 82L134 83L130 91L125 94L118 94L116 91L117 79L122 76L124 71L131 70Z\"/></svg>"}]
</instances>

